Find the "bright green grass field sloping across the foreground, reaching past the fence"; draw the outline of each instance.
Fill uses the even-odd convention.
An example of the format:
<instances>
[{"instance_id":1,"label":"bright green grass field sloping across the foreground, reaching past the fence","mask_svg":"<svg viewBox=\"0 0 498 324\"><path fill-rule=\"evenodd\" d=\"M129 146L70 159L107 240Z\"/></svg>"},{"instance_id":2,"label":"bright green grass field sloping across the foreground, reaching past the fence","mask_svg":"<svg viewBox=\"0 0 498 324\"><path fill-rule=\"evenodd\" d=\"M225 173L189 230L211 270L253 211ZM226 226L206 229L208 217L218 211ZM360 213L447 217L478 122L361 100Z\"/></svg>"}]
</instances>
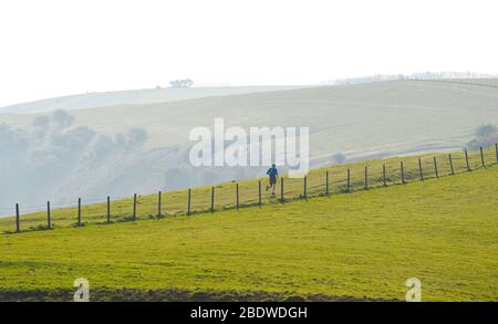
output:
<instances>
[{"instance_id":1,"label":"bright green grass field sloping across the foreground, reaching past the fence","mask_svg":"<svg viewBox=\"0 0 498 324\"><path fill-rule=\"evenodd\" d=\"M486 158L492 161L492 157L494 151L487 150ZM54 230L0 236L0 297L12 292L37 295L71 291L76 278L86 278L91 299L92 290L126 288L137 294L164 289L404 300L404 283L415 276L422 281L424 301L496 301L498 166L463 173L461 157L456 158L456 176L446 176L440 166L439 179L423 182L411 166L416 158L405 157L405 186L350 195L335 195L343 188L331 186L333 195L329 197L283 205L267 197L261 209L187 217L178 202L176 208L169 205L172 213L177 209L175 217L152 219L148 215L155 213L156 197L143 196L137 221L100 223L105 220L105 205L96 205L85 207L86 226L82 228L70 226L74 209L58 210ZM471 160L477 168L475 154ZM398 182L394 176L398 161L386 161L393 174L390 184ZM369 161L372 170L382 164ZM429 167L424 166L429 177ZM360 189L362 164L334 167L331 174L336 171L339 179L347 167L355 175L354 188ZM323 192L319 181L323 170L310 175L311 196ZM372 178L378 174L372 171ZM295 187L289 185L291 198L301 195L302 180L297 181ZM247 186L249 192L257 190L255 184L240 186ZM217 188L221 192L225 188L226 197L234 198L228 195L234 192L232 185ZM208 198L200 200L200 192L207 197L210 192L209 188L197 190L199 195L194 197L199 199L193 201L200 210L209 205ZM222 197L220 200L221 200L218 209L234 205ZM165 199L166 206L168 200L174 201ZM117 201L113 208L124 217L129 202ZM24 222L35 226L43 218L43 213L25 216ZM12 218L2 219L1 229L10 231L12 222Z\"/></svg>"}]
</instances>

